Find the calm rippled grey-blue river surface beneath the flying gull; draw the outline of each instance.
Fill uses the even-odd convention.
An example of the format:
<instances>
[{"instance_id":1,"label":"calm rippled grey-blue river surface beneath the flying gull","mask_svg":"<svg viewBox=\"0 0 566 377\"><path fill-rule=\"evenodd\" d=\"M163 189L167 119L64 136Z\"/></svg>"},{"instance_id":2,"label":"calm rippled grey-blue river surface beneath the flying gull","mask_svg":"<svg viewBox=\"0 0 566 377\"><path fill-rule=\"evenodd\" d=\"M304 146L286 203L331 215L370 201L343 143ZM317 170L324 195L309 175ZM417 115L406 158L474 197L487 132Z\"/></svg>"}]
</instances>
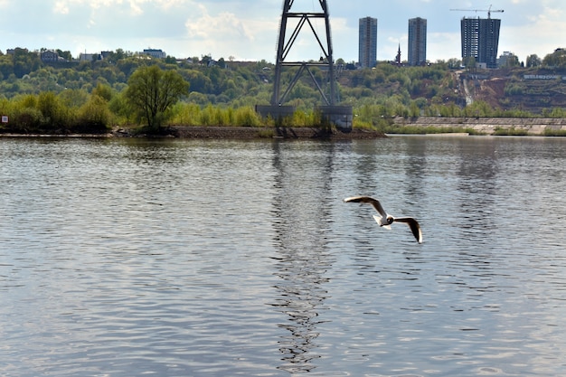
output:
<instances>
[{"instance_id":1,"label":"calm rippled grey-blue river surface beneath the flying gull","mask_svg":"<svg viewBox=\"0 0 566 377\"><path fill-rule=\"evenodd\" d=\"M564 138L0 138L0 375L566 375L565 184Z\"/></svg>"}]
</instances>

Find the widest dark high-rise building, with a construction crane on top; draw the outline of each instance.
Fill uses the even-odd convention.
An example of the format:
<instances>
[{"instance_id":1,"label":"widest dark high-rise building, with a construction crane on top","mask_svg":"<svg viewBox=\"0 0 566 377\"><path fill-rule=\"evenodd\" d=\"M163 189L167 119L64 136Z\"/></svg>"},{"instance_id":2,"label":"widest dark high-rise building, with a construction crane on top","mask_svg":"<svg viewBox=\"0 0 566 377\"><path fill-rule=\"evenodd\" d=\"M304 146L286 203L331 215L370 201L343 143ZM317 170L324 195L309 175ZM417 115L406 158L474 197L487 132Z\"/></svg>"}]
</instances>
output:
<instances>
[{"instance_id":1,"label":"widest dark high-rise building, with a construction crane on top","mask_svg":"<svg viewBox=\"0 0 566 377\"><path fill-rule=\"evenodd\" d=\"M462 59L476 58L476 63L497 68L497 45L501 20L494 18L462 18Z\"/></svg>"}]
</instances>

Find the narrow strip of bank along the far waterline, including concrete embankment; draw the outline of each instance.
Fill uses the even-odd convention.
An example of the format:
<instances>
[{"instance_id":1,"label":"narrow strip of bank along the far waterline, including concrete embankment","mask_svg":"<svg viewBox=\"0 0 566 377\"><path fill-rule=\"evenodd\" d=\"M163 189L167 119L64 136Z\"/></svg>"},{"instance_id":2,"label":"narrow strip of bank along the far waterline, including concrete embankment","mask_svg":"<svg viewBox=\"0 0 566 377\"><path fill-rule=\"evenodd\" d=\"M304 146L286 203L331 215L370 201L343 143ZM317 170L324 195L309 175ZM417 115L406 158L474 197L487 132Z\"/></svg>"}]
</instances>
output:
<instances>
[{"instance_id":1,"label":"narrow strip of bank along the far waterline, including concrete embankment","mask_svg":"<svg viewBox=\"0 0 566 377\"><path fill-rule=\"evenodd\" d=\"M170 137L203 139L331 139L354 140L388 137L390 135L439 136L534 136L566 137L566 119L563 118L391 118L382 127L353 127L290 124L261 126L237 125L170 125L158 131L148 127L123 126L104 130L80 127L79 130L10 129L0 126L0 137Z\"/></svg>"}]
</instances>

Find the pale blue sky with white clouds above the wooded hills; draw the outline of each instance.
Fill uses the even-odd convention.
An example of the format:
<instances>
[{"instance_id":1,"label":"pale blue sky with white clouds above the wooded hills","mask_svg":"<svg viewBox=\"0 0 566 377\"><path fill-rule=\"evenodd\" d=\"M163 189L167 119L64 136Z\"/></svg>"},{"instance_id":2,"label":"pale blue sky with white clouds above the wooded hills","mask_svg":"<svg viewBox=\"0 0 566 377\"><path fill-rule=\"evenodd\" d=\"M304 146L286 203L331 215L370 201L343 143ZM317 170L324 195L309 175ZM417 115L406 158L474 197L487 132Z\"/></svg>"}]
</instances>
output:
<instances>
[{"instance_id":1,"label":"pale blue sky with white clouds above the wooded hills","mask_svg":"<svg viewBox=\"0 0 566 377\"><path fill-rule=\"evenodd\" d=\"M321 12L321 0L295 0L292 12ZM176 58L274 62L282 0L0 0L0 51L60 49L140 52L161 49ZM326 0L334 58L358 61L358 20L378 19L377 59L391 61L401 45L407 59L408 20L427 19L427 59L460 59L460 19L501 19L498 55L543 58L566 48L564 0ZM453 8L464 9L454 11ZM478 11L474 11L478 10ZM503 10L504 12L495 12ZM288 29L295 25L288 23ZM325 22L314 23L325 35ZM287 35L290 35L288 30ZM287 61L319 59L314 33L302 29ZM325 43L325 41L323 41Z\"/></svg>"}]
</instances>

